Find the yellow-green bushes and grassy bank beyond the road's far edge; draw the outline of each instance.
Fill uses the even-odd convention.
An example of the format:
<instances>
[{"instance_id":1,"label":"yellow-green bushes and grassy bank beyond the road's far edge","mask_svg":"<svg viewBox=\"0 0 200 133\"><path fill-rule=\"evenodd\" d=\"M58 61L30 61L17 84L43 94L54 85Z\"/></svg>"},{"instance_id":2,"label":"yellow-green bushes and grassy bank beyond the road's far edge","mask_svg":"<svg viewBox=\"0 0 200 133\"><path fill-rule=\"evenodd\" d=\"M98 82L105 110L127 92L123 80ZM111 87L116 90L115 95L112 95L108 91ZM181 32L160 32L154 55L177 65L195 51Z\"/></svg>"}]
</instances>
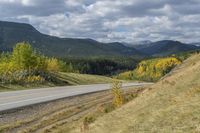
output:
<instances>
[{"instance_id":1,"label":"yellow-green bushes and grassy bank beyond the road's far edge","mask_svg":"<svg viewBox=\"0 0 200 133\"><path fill-rule=\"evenodd\" d=\"M71 63L43 56L28 43L0 54L0 91L56 85L108 83L111 78L76 72Z\"/></svg>"}]
</instances>

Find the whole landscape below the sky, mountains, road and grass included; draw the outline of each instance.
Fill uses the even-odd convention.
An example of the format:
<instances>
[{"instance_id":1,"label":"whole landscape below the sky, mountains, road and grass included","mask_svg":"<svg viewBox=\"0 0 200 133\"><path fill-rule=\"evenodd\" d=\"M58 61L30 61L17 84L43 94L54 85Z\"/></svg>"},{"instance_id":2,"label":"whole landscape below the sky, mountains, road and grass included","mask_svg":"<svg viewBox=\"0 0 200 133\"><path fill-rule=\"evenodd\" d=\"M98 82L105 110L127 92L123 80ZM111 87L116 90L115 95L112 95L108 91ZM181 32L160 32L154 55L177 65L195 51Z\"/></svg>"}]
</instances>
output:
<instances>
[{"instance_id":1,"label":"whole landscape below the sky, mountains, road and grass included","mask_svg":"<svg viewBox=\"0 0 200 133\"><path fill-rule=\"evenodd\" d=\"M0 132L199 132L198 43L141 43L0 21Z\"/></svg>"}]
</instances>

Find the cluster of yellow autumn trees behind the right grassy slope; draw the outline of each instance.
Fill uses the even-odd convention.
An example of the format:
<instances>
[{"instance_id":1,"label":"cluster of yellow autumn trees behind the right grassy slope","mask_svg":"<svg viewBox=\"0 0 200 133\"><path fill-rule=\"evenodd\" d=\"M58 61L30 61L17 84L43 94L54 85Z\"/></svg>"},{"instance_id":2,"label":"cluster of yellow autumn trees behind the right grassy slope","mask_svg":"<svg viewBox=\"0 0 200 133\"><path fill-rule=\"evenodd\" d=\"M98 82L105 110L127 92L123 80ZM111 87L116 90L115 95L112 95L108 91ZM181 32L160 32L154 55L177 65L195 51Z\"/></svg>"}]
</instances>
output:
<instances>
[{"instance_id":1,"label":"cluster of yellow autumn trees behind the right grassy slope","mask_svg":"<svg viewBox=\"0 0 200 133\"><path fill-rule=\"evenodd\" d=\"M181 61L175 57L144 60L138 64L134 71L121 73L117 76L117 78L157 81L180 63Z\"/></svg>"}]
</instances>

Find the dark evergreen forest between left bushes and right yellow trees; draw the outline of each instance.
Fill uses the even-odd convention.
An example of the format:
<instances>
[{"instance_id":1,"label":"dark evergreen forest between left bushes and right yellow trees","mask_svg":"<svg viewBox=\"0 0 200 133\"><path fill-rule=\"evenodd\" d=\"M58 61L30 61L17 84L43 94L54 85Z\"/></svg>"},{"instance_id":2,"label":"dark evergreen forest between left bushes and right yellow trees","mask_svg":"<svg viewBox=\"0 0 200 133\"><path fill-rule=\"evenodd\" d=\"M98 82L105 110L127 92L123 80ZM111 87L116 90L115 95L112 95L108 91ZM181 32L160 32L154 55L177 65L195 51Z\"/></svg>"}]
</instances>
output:
<instances>
[{"instance_id":1,"label":"dark evergreen forest between left bushes and right yellow trees","mask_svg":"<svg viewBox=\"0 0 200 133\"><path fill-rule=\"evenodd\" d=\"M111 76L134 69L140 59L135 57L77 57L65 58L63 61L70 64L75 72Z\"/></svg>"}]
</instances>

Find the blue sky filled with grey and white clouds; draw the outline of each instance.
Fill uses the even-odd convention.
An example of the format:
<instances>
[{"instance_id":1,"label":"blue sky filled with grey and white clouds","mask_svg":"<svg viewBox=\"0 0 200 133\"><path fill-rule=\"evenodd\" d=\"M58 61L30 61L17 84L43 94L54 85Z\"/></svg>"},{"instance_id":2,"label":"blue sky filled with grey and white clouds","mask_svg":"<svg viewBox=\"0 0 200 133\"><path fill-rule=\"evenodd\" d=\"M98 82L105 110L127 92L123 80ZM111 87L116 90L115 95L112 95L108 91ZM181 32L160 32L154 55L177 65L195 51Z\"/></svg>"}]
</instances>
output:
<instances>
[{"instance_id":1,"label":"blue sky filled with grey and white clouds","mask_svg":"<svg viewBox=\"0 0 200 133\"><path fill-rule=\"evenodd\" d=\"M102 42L200 42L200 0L0 0L0 20Z\"/></svg>"}]
</instances>

